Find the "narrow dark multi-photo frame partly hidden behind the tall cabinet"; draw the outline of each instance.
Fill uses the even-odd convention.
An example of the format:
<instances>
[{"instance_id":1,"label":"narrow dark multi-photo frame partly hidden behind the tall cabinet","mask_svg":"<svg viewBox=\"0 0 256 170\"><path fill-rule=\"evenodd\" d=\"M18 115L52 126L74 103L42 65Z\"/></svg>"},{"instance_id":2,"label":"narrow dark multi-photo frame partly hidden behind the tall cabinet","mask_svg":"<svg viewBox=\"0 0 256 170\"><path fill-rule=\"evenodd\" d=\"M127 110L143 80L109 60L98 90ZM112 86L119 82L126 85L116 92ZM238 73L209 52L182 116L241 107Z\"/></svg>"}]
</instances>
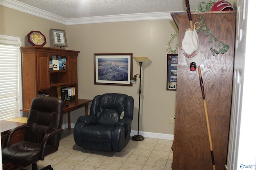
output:
<instances>
[{"instance_id":1,"label":"narrow dark multi-photo frame partly hidden behind the tall cabinet","mask_svg":"<svg viewBox=\"0 0 256 170\"><path fill-rule=\"evenodd\" d=\"M177 89L178 54L167 54L166 90Z\"/></svg>"}]
</instances>

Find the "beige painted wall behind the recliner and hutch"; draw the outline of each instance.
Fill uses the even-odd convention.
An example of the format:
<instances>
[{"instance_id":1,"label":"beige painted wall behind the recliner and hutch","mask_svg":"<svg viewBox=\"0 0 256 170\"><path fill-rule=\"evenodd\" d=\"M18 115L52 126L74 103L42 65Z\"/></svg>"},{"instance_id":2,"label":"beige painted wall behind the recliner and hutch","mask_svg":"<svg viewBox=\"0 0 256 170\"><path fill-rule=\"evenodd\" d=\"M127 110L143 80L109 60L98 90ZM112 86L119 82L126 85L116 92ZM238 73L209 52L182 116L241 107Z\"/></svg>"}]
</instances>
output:
<instances>
[{"instance_id":1,"label":"beige painted wall behind the recliner and hutch","mask_svg":"<svg viewBox=\"0 0 256 170\"><path fill-rule=\"evenodd\" d=\"M171 18L171 17L170 17ZM138 123L138 88L133 86L94 85L94 53L133 53L134 57L149 57L142 64L142 99L140 131L174 134L176 91L166 90L167 53L166 44L176 26L172 20L127 21L63 25L30 14L0 6L0 34L22 38L34 30L46 36L50 47L50 28L65 29L68 48L81 51L78 55L78 98L92 99L98 94L125 93L134 97L134 120L132 130ZM176 44L176 43L175 43ZM139 73L139 64L134 61L133 75ZM72 112L75 123L84 108ZM66 116L64 116L66 123Z\"/></svg>"}]
</instances>

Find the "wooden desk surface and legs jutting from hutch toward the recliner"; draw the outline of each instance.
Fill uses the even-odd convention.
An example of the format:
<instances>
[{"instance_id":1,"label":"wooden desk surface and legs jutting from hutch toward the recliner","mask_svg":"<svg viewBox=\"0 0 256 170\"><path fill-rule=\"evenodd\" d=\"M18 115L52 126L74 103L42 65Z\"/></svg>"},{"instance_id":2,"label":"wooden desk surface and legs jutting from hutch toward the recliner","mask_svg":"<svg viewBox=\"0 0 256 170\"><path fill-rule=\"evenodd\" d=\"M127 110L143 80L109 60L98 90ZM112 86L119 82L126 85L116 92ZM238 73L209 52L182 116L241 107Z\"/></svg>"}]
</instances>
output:
<instances>
[{"instance_id":1,"label":"wooden desk surface and legs jutting from hutch toward the recliner","mask_svg":"<svg viewBox=\"0 0 256 170\"><path fill-rule=\"evenodd\" d=\"M87 99L76 99L76 100L64 101L64 105L68 104L68 106L63 107L63 113L68 113L68 129L71 129L70 112L80 107L85 107L85 115L88 115L88 104L90 102L92 102L92 100L87 100Z\"/></svg>"}]
</instances>

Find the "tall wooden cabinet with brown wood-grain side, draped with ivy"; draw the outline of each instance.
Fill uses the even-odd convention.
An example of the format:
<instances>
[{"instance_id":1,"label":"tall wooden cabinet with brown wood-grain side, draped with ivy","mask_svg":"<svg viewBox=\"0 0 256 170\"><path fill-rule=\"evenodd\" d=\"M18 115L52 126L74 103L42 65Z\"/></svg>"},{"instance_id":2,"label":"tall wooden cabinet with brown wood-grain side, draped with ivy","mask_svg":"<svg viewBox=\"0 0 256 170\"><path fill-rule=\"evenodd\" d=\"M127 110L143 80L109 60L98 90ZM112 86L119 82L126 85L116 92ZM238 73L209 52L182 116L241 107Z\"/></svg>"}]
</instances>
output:
<instances>
[{"instance_id":1,"label":"tall wooden cabinet with brown wood-grain side, draped with ivy","mask_svg":"<svg viewBox=\"0 0 256 170\"><path fill-rule=\"evenodd\" d=\"M171 13L179 30L178 77L172 170L212 170L212 157L206 126L198 69L189 70L181 46L185 30L190 28L186 13ZM212 55L213 43L200 30L201 72L210 123L216 170L224 170L232 100L236 12L204 12L204 21L212 35L229 45L226 53ZM193 23L201 21L192 12Z\"/></svg>"}]
</instances>

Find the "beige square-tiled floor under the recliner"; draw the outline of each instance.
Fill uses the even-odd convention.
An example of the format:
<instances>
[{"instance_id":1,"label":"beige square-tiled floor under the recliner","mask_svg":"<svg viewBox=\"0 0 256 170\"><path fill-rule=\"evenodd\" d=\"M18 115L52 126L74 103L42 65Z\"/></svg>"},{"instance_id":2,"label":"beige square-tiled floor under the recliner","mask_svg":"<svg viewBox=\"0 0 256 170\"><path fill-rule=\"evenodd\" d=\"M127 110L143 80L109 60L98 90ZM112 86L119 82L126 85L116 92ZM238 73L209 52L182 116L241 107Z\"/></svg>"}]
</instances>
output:
<instances>
[{"instance_id":1,"label":"beige square-tiled floor under the recliner","mask_svg":"<svg viewBox=\"0 0 256 170\"><path fill-rule=\"evenodd\" d=\"M121 152L102 152L78 147L73 129L65 129L58 151L37 164L38 169L51 164L54 170L171 170L172 142L154 138L130 140ZM31 170L31 166L25 169Z\"/></svg>"}]
</instances>

